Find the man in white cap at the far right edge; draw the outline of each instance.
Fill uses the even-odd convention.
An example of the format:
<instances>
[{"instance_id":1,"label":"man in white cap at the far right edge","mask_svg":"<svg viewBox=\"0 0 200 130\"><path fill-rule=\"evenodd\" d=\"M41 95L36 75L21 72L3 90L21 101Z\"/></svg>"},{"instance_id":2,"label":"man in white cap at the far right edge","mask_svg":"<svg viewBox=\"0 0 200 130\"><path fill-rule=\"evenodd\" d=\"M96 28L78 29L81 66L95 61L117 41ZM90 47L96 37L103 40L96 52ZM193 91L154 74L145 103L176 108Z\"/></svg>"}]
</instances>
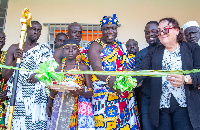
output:
<instances>
[{"instance_id":1,"label":"man in white cap at the far right edge","mask_svg":"<svg viewBox=\"0 0 200 130\"><path fill-rule=\"evenodd\" d=\"M183 32L187 42L198 43L200 39L200 28L196 21L189 21L184 24Z\"/></svg>"}]
</instances>

